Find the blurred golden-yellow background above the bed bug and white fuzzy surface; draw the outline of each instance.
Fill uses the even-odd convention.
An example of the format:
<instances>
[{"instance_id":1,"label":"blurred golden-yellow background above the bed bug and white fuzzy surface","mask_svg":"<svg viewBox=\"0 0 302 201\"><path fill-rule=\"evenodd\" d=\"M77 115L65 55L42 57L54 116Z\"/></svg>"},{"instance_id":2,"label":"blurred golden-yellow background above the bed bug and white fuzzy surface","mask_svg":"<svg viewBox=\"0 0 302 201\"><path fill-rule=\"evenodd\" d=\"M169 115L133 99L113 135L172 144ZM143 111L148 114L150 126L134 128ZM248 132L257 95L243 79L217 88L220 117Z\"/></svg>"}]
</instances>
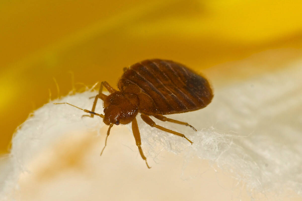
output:
<instances>
[{"instance_id":1,"label":"blurred golden-yellow background above the bed bug and white fuzzy surface","mask_svg":"<svg viewBox=\"0 0 302 201\"><path fill-rule=\"evenodd\" d=\"M16 127L48 102L49 89L57 97L53 78L61 94L71 90L70 71L76 83L114 86L124 66L146 58L207 72L267 49L301 56L302 2L295 0L13 0L0 10L1 153Z\"/></svg>"}]
</instances>

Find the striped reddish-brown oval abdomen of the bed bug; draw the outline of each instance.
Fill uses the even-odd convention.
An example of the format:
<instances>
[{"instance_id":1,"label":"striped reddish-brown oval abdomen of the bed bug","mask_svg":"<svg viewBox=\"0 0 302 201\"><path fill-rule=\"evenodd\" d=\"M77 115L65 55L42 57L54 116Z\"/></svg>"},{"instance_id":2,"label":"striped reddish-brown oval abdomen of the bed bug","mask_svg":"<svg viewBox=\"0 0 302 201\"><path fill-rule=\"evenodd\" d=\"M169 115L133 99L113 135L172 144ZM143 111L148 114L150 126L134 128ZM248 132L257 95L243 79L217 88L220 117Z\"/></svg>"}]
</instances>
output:
<instances>
[{"instance_id":1,"label":"striped reddish-brown oval abdomen of the bed bug","mask_svg":"<svg viewBox=\"0 0 302 201\"><path fill-rule=\"evenodd\" d=\"M138 94L141 108L152 100L152 112L160 115L198 110L213 98L204 77L182 64L160 59L133 64L122 75L118 87L122 92Z\"/></svg>"}]
</instances>

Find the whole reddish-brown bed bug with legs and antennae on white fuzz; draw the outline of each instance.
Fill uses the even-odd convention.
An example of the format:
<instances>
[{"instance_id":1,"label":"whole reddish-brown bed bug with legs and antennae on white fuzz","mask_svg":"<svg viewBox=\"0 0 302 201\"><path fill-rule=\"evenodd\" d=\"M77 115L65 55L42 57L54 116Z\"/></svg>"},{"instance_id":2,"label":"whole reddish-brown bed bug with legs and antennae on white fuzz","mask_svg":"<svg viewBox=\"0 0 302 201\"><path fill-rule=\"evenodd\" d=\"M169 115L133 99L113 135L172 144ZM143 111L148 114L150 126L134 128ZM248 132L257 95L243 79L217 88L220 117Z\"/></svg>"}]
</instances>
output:
<instances>
[{"instance_id":1,"label":"whole reddish-brown bed bug with legs and antennae on white fuzz","mask_svg":"<svg viewBox=\"0 0 302 201\"><path fill-rule=\"evenodd\" d=\"M103 86L109 91L108 96L102 93ZM106 81L103 81L98 95L95 96L91 111L66 102L55 104L68 104L90 113L90 115L83 116L94 117L97 115L103 118L109 128L101 155L107 145L111 127L114 124L132 122L136 145L148 168L150 167L141 148L140 132L136 120L138 113L149 126L183 137L192 144L193 142L184 134L155 124L150 116L160 121L189 126L196 131L186 122L170 119L163 115L204 108L213 98L210 84L204 77L183 64L161 59L144 60L129 68L124 68L124 74L118 81L117 87L119 90L115 90ZM104 115L95 113L98 99L102 99L104 102Z\"/></svg>"}]
</instances>

